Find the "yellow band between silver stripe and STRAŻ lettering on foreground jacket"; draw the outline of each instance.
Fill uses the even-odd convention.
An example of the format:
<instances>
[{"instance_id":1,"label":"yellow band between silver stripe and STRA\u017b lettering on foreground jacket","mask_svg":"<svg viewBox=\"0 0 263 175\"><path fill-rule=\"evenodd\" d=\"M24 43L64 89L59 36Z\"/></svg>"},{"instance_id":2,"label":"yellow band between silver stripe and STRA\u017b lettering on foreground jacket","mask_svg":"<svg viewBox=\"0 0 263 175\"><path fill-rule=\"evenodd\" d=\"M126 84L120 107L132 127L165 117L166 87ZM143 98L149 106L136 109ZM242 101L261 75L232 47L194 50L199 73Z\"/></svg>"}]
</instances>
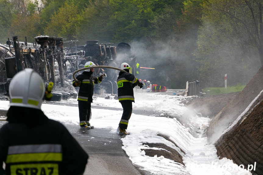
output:
<instances>
[{"instance_id":1,"label":"yellow band between silver stripe and STRA\u017b lettering on foreground jacket","mask_svg":"<svg viewBox=\"0 0 263 175\"><path fill-rule=\"evenodd\" d=\"M6 158L6 163L33 162L33 161L62 161L61 152L11 154Z\"/></svg>"}]
</instances>

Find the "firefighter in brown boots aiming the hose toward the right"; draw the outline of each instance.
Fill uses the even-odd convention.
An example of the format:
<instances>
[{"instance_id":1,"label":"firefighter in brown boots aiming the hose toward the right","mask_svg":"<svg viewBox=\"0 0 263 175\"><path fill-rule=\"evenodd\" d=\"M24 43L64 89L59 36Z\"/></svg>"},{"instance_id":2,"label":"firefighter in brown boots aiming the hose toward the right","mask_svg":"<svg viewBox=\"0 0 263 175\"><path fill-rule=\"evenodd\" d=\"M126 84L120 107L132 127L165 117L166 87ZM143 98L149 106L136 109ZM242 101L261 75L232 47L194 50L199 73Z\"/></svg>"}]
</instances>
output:
<instances>
[{"instance_id":1,"label":"firefighter in brown boots aiming the hose toward the right","mask_svg":"<svg viewBox=\"0 0 263 175\"><path fill-rule=\"evenodd\" d=\"M133 74L129 73L131 70L129 64L122 63L121 69L126 72L119 72L119 77L117 79L118 99L123 107L123 114L117 131L119 134L128 135L129 133L126 129L132 114L132 102L134 102L133 88L135 86L140 86L140 88L142 88L142 83L140 83Z\"/></svg>"}]
</instances>

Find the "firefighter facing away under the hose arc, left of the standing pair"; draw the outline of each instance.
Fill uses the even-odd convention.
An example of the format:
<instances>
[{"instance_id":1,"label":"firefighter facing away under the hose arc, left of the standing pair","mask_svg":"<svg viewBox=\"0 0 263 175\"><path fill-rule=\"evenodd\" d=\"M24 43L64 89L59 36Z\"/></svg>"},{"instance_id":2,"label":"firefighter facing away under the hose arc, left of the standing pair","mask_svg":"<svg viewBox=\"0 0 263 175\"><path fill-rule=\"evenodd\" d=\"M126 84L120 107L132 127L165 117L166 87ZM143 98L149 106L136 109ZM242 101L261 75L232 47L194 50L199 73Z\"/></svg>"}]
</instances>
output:
<instances>
[{"instance_id":1,"label":"firefighter facing away under the hose arc, left of the standing pair","mask_svg":"<svg viewBox=\"0 0 263 175\"><path fill-rule=\"evenodd\" d=\"M94 66L95 64L91 61L85 63L84 67ZM90 129L94 128L90 124L91 120L91 103L93 96L94 83L98 84L104 78L104 74L99 77L93 75L94 68L85 69L85 71L78 75L76 79L78 82L73 80L73 86L80 86L78 93L78 105L79 105L79 116L80 116L80 128Z\"/></svg>"}]
</instances>

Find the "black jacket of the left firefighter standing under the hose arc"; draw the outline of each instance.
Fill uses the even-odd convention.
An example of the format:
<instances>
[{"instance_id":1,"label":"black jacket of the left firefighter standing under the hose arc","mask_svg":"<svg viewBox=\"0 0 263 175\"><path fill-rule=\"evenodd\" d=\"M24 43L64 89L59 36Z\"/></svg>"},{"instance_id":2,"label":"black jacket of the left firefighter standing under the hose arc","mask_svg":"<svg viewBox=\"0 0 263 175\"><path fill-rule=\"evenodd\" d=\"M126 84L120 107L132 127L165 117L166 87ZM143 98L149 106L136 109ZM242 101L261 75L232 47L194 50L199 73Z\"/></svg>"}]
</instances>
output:
<instances>
[{"instance_id":1,"label":"black jacket of the left firefighter standing under the hose arc","mask_svg":"<svg viewBox=\"0 0 263 175\"><path fill-rule=\"evenodd\" d=\"M94 83L98 84L101 82L99 77L95 77L93 72L84 71L82 74L78 75L76 79L81 82L80 89L78 93L78 101L90 101L92 102ZM76 82L73 80L73 86L76 87Z\"/></svg>"}]
</instances>

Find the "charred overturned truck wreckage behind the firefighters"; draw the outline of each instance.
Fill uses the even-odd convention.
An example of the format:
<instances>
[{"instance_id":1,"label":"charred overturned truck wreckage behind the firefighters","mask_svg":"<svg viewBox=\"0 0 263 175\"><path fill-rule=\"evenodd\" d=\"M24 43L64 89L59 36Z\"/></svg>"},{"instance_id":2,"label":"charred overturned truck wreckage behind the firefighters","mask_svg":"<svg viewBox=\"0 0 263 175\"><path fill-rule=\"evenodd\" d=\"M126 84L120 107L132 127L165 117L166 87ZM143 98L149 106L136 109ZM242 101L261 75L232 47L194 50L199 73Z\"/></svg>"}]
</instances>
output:
<instances>
[{"instance_id":1,"label":"charred overturned truck wreckage behind the firefighters","mask_svg":"<svg viewBox=\"0 0 263 175\"><path fill-rule=\"evenodd\" d=\"M45 85L53 82L54 101L75 98L78 87L72 86L73 72L83 68L87 61L97 66L120 67L127 62L132 67L132 74L136 76L137 58L133 48L127 43L100 44L98 40L86 41L85 45L78 45L78 40L68 40L61 37L37 36L35 43L19 42L13 37L6 44L0 44L0 93L7 95L12 77L25 68L33 68L40 74ZM64 47L68 45L68 47ZM82 72L77 72L76 75ZM106 73L104 80L94 85L94 93L105 98L116 99L118 70L96 68L95 76Z\"/></svg>"}]
</instances>

